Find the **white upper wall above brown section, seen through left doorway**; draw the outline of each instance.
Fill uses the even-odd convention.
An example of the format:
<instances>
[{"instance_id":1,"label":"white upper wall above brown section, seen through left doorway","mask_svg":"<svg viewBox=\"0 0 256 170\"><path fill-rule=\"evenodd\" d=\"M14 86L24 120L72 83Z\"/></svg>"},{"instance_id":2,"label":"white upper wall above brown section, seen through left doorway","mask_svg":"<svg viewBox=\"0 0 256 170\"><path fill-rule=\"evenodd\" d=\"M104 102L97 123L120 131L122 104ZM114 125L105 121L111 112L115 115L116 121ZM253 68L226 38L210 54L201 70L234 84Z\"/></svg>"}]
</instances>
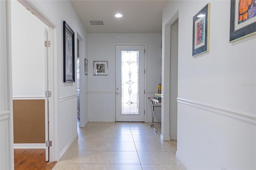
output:
<instances>
[{"instance_id":1,"label":"white upper wall above brown section, seen through left doorway","mask_svg":"<svg viewBox=\"0 0 256 170\"><path fill-rule=\"evenodd\" d=\"M44 99L46 90L44 28L47 26L18 1L11 1L11 10L14 99L17 97Z\"/></svg>"}]
</instances>

